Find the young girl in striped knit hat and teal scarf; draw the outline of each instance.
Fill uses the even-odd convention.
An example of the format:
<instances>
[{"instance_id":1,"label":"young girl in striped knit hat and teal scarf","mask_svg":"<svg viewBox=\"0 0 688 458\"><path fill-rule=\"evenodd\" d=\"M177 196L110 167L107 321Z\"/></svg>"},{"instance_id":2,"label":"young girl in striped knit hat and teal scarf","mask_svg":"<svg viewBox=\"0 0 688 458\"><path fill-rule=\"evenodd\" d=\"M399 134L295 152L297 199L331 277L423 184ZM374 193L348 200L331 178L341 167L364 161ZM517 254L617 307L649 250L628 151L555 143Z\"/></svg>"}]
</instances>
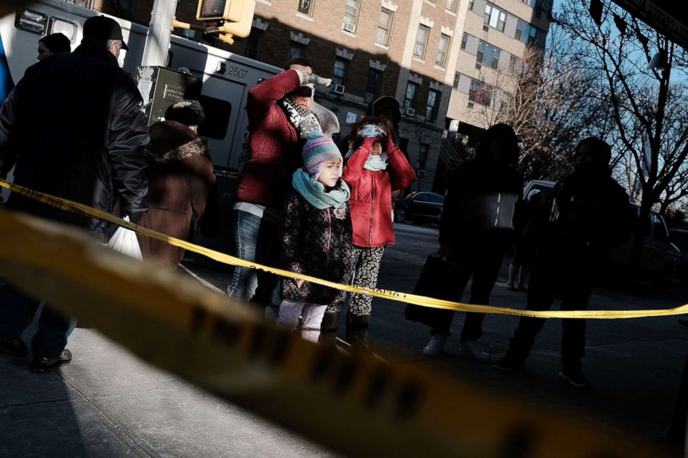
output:
<instances>
[{"instance_id":1,"label":"young girl in striped knit hat and teal scarf","mask_svg":"<svg viewBox=\"0 0 688 458\"><path fill-rule=\"evenodd\" d=\"M292 178L286 199L282 253L284 268L335 283L348 283L352 272L350 189L342 176L342 155L334 141L316 132L303 148L303 168ZM318 342L328 306L339 307L346 292L327 286L282 279L277 325L295 329Z\"/></svg>"}]
</instances>

